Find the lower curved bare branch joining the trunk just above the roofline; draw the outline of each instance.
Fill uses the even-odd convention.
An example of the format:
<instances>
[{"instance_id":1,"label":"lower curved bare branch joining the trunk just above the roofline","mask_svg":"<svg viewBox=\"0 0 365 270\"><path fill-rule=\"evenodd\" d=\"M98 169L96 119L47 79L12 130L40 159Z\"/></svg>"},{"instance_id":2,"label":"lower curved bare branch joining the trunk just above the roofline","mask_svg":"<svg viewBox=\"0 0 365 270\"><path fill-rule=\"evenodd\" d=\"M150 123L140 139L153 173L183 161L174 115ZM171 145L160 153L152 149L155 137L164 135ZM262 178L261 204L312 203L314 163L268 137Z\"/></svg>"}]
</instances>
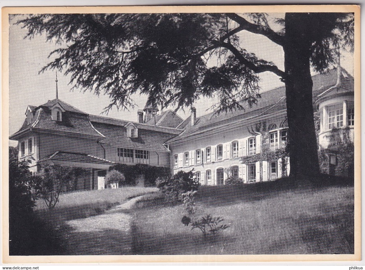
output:
<instances>
[{"instance_id":1,"label":"lower curved bare branch joining the trunk just above the roofline","mask_svg":"<svg viewBox=\"0 0 365 270\"><path fill-rule=\"evenodd\" d=\"M253 62L248 61L242 54L237 50L231 43L226 42L217 42L220 46L227 48L230 50L235 57L237 57L238 61L243 65L247 66L247 68L251 69L255 73L261 73L265 71L270 71L276 74L277 76L285 79L285 72L280 70L276 65L255 65Z\"/></svg>"}]
</instances>

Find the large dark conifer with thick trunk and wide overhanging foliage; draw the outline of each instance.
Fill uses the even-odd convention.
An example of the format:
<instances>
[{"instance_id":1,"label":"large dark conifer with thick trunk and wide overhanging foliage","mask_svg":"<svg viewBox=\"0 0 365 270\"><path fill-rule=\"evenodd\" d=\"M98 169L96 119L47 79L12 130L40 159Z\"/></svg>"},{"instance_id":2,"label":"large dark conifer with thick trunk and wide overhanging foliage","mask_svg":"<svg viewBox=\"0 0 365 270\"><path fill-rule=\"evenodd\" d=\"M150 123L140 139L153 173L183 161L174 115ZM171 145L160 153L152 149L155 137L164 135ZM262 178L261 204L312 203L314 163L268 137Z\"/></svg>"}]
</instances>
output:
<instances>
[{"instance_id":1,"label":"large dark conifer with thick trunk and wide overhanging foliage","mask_svg":"<svg viewBox=\"0 0 365 270\"><path fill-rule=\"evenodd\" d=\"M324 71L334 48L353 47L354 16L346 13L269 14L36 14L18 23L28 37L45 33L64 45L46 69L71 74L75 88L110 96L112 106L148 102L190 107L216 96L217 113L243 109L260 98L258 74L285 82L291 176L319 173L312 107L311 67ZM242 48L247 32L284 50L285 70ZM214 59L215 61L210 61ZM212 64L214 63L214 64Z\"/></svg>"}]
</instances>

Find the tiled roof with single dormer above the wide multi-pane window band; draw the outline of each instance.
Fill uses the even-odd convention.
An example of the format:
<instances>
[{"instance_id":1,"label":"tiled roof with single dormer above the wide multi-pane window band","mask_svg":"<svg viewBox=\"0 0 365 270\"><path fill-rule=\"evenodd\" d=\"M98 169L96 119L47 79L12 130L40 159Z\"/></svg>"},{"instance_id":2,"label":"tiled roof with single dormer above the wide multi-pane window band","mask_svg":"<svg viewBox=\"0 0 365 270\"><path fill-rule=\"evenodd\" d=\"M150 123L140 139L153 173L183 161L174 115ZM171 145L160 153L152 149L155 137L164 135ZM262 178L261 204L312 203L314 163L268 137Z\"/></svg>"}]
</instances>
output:
<instances>
[{"instance_id":1,"label":"tiled roof with single dormer above the wide multi-pane window band","mask_svg":"<svg viewBox=\"0 0 365 270\"><path fill-rule=\"evenodd\" d=\"M127 137L127 130L123 125L100 122L92 122L92 124L106 137L100 140L100 143L116 147L169 152L163 144L168 139L176 136L176 134L151 130L150 127L143 129L143 127L139 126L138 138L129 138Z\"/></svg>"}]
</instances>

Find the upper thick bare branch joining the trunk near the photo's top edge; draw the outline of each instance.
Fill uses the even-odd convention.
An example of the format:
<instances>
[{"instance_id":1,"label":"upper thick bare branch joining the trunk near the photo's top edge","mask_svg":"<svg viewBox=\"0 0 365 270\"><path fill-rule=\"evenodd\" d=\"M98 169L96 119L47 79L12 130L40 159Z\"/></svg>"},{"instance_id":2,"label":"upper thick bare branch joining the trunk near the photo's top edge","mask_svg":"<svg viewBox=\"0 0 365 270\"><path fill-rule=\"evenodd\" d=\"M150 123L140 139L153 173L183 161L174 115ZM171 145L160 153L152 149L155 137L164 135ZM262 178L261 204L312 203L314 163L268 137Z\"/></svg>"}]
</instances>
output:
<instances>
[{"instance_id":1,"label":"upper thick bare branch joining the trunk near the photo's top edge","mask_svg":"<svg viewBox=\"0 0 365 270\"><path fill-rule=\"evenodd\" d=\"M239 31L246 30L246 31L249 31L254 34L264 35L265 37L269 38L271 41L275 42L276 44L283 46L284 38L281 35L277 34L275 31L273 31L271 28L267 28L267 27L260 26L260 25L254 24L254 23L250 23L249 21L242 18L241 16L238 16L235 13L227 13L227 16L228 16L228 18L230 18L231 20L234 20L235 22L237 22L239 24L239 27L235 28L234 30L238 30L238 29L239 29ZM234 30L232 30L232 31L234 31ZM235 32L235 33L237 33L237 32ZM225 37L225 36L226 35L224 35L223 37ZM225 37L225 38L227 38L227 37ZM221 39L221 41L223 41L223 40L224 39Z\"/></svg>"}]
</instances>

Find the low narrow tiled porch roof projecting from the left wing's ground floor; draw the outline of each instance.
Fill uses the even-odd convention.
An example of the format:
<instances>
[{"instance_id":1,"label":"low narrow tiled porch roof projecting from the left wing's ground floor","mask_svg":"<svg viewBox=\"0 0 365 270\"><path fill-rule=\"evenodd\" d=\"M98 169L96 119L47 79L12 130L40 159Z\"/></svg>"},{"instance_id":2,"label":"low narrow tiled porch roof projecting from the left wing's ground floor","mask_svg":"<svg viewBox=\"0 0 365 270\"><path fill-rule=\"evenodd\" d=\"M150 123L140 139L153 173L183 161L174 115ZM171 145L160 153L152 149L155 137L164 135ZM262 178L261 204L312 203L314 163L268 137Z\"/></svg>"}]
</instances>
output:
<instances>
[{"instance_id":1,"label":"low narrow tiled porch roof projecting from the left wing's ground floor","mask_svg":"<svg viewBox=\"0 0 365 270\"><path fill-rule=\"evenodd\" d=\"M62 161L74 161L74 162L85 162L85 163L97 163L97 164L114 164L114 161L101 159L87 154L73 153L73 152L55 152L45 159L39 160L39 162L45 160L62 160Z\"/></svg>"}]
</instances>

